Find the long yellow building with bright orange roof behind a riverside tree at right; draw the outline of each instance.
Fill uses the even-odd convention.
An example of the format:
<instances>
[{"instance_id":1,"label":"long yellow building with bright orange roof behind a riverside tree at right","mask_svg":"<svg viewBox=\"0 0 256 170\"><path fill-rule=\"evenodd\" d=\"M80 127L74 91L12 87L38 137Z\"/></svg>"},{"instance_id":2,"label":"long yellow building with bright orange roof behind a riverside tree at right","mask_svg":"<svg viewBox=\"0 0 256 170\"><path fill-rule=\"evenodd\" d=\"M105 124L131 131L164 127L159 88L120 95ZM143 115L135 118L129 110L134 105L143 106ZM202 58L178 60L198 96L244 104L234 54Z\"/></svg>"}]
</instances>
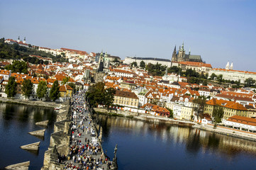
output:
<instances>
[{"instance_id":1,"label":"long yellow building with bright orange roof behind a riverside tree at right","mask_svg":"<svg viewBox=\"0 0 256 170\"><path fill-rule=\"evenodd\" d=\"M235 103L235 101L224 101L222 99L217 100L216 98L211 99L206 102L206 106L204 107L204 113L208 113L209 115L213 115L214 106L221 106L224 111L223 118L228 119L233 115L240 115L243 117L249 117L248 110L240 103Z\"/></svg>"}]
</instances>

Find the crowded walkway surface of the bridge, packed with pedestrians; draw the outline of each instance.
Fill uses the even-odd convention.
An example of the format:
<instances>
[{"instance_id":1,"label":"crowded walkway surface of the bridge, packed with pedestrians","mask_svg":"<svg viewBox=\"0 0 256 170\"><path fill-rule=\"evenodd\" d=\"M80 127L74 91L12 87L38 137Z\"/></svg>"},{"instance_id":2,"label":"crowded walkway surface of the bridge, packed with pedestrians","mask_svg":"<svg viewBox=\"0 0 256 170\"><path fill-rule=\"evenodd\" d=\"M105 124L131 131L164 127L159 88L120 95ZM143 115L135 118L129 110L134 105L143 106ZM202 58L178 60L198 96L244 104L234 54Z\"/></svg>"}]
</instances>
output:
<instances>
[{"instance_id":1,"label":"crowded walkway surface of the bridge, packed with pedestrians","mask_svg":"<svg viewBox=\"0 0 256 170\"><path fill-rule=\"evenodd\" d=\"M101 142L99 142L99 138L97 137L94 122L91 119L91 115L87 109L87 103L85 103L82 94L73 96L71 107L72 144L70 145L70 150L73 148L73 153L70 154L71 152L69 152L69 160L64 162L66 164L65 169L111 169L113 167L111 165L112 162L109 160L106 161L104 149L101 147ZM84 128L82 129L82 127ZM81 143L77 141L81 141ZM89 149L87 149L87 145L89 145ZM83 146L84 152L82 151ZM75 147L79 147L77 152L74 151L76 150L74 149ZM97 147L98 152L95 154L93 149L95 150ZM79 157L81 158L81 156L82 159L79 161ZM97 162L99 164L97 164Z\"/></svg>"}]
</instances>

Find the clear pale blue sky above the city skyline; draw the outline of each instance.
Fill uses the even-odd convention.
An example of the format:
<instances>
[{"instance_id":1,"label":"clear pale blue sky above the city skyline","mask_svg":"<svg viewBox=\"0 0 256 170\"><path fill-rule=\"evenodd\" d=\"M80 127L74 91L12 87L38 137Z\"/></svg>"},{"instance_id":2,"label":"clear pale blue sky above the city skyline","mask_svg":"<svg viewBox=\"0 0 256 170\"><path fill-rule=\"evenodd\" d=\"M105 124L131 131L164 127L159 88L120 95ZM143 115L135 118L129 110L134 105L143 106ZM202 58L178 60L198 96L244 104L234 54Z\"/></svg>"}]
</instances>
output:
<instances>
[{"instance_id":1,"label":"clear pale blue sky above the city skyline","mask_svg":"<svg viewBox=\"0 0 256 170\"><path fill-rule=\"evenodd\" d=\"M171 60L174 46L213 68L256 72L255 0L1 0L0 38Z\"/></svg>"}]
</instances>

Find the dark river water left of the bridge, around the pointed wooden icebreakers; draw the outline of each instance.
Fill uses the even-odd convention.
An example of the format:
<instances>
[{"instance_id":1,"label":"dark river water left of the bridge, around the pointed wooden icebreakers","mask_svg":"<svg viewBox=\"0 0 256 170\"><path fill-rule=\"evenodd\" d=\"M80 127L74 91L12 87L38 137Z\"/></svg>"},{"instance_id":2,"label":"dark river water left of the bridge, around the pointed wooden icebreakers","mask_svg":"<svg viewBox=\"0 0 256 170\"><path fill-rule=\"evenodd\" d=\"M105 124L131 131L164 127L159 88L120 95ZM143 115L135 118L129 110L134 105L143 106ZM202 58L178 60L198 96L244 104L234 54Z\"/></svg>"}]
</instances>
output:
<instances>
[{"instance_id":1,"label":"dark river water left of the bridge, around the pointed wooden icebreakers","mask_svg":"<svg viewBox=\"0 0 256 170\"><path fill-rule=\"evenodd\" d=\"M45 137L29 135L28 132L43 129L35 125L36 122L43 120L49 120ZM29 169L40 169L55 120L56 113L53 108L0 103L0 169L26 161L30 161ZM20 148L21 145L33 142L40 142L38 152L28 152Z\"/></svg>"}]
</instances>

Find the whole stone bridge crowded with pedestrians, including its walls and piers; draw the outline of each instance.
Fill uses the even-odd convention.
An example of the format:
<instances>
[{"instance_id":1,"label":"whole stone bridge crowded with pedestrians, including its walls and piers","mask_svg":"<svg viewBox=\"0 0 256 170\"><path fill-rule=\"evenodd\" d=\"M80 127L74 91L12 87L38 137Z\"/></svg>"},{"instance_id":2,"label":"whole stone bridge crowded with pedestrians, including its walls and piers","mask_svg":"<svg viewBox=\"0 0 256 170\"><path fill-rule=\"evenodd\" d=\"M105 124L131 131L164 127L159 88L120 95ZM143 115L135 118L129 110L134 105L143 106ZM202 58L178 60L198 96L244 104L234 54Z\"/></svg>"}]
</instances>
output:
<instances>
[{"instance_id":1,"label":"whole stone bridge crowded with pedestrians, including its walls and piers","mask_svg":"<svg viewBox=\"0 0 256 170\"><path fill-rule=\"evenodd\" d=\"M110 161L101 146L102 128L94 123L91 110L84 91L61 104L41 170L117 169L117 146Z\"/></svg>"}]
</instances>

